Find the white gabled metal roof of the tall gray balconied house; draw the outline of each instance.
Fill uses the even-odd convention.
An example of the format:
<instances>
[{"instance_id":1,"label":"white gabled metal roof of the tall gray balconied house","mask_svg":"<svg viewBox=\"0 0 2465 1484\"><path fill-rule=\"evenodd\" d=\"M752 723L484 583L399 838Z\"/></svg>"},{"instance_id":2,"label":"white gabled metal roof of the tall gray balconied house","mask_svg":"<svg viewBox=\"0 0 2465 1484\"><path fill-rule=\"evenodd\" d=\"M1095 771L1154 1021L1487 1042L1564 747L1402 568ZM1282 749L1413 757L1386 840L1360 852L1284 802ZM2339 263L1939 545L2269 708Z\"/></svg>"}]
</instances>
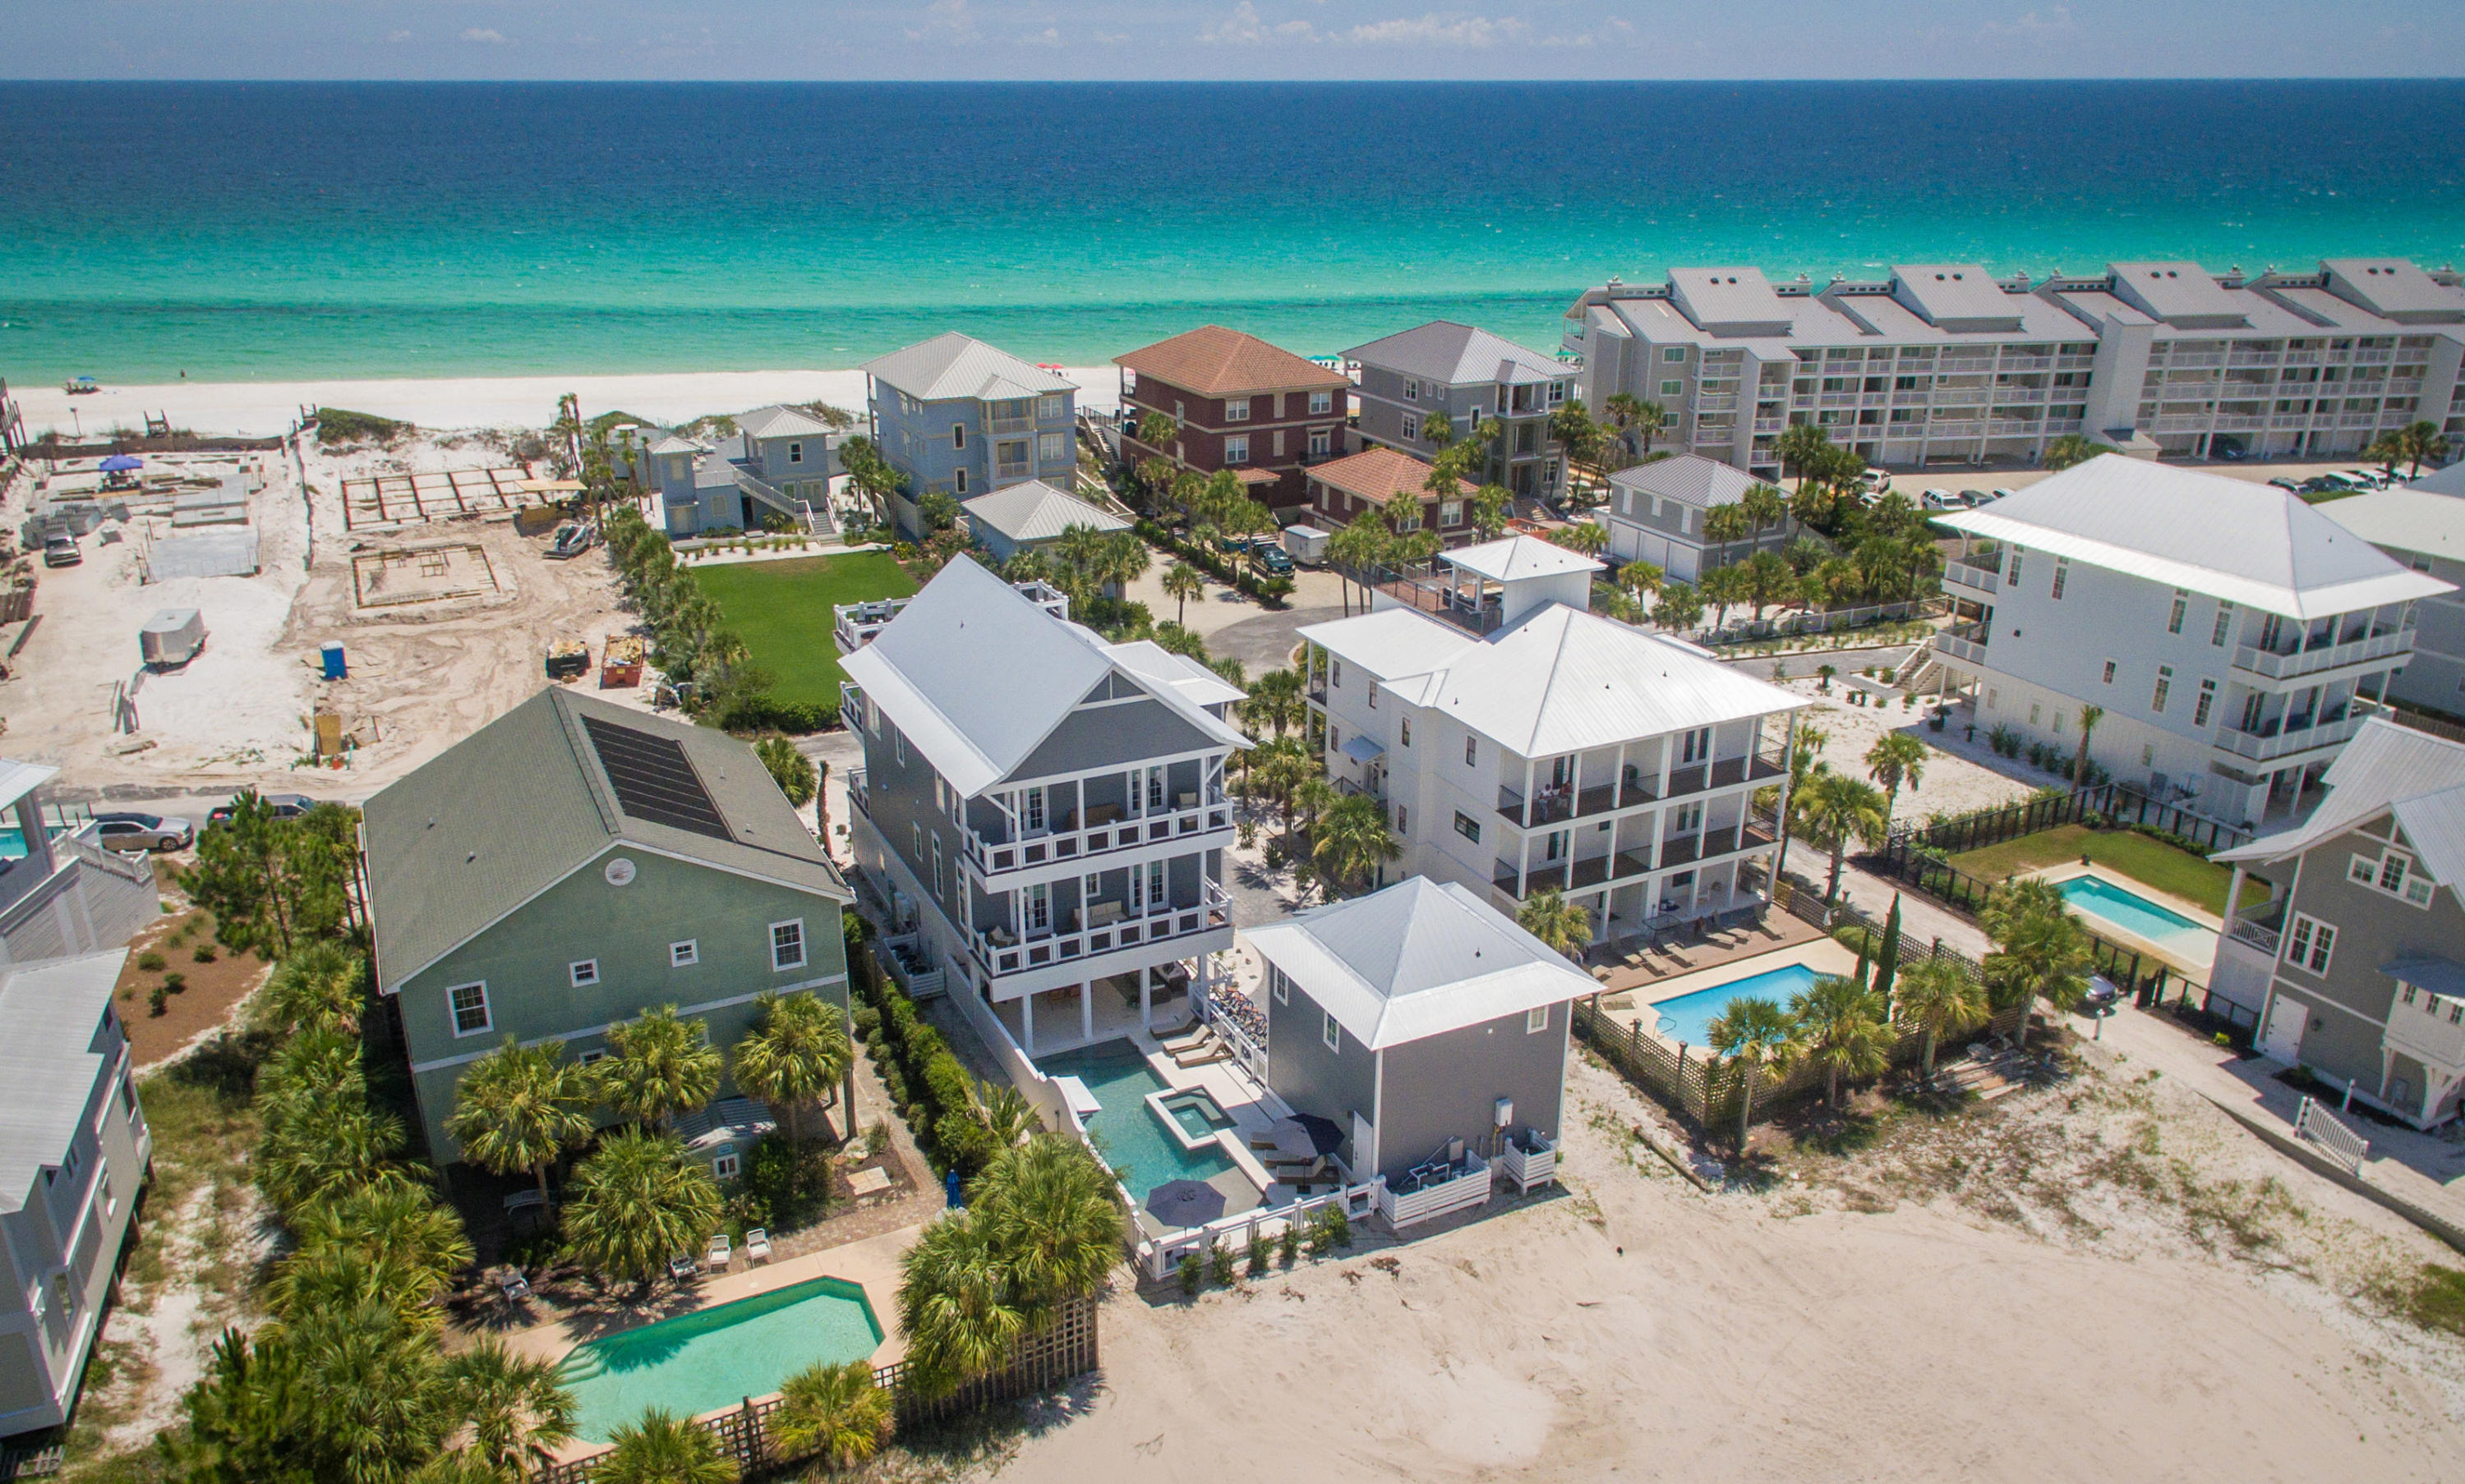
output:
<instances>
[{"instance_id":1,"label":"white gabled metal roof of the tall gray balconied house","mask_svg":"<svg viewBox=\"0 0 2465 1484\"><path fill-rule=\"evenodd\" d=\"M1228 747L1250 740L1178 683L1156 683L1099 636L956 557L838 666L961 794L1006 779L1104 675L1127 675Z\"/></svg>"}]
</instances>

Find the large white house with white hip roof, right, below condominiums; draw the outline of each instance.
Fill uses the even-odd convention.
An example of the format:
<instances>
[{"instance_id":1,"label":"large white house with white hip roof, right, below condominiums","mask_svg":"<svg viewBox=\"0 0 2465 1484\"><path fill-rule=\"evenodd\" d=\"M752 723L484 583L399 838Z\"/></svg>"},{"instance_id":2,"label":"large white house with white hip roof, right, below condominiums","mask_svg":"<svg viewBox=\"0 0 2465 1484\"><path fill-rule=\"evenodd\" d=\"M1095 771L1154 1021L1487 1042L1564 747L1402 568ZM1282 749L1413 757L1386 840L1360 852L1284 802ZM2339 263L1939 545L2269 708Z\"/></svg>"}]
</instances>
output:
<instances>
[{"instance_id":1,"label":"large white house with white hip roof, right, below condominiums","mask_svg":"<svg viewBox=\"0 0 2465 1484\"><path fill-rule=\"evenodd\" d=\"M1933 653L1982 732L2221 823L2315 801L2453 592L2275 486L2105 454L1977 510ZM1923 675L1918 675L1923 680Z\"/></svg>"}]
</instances>

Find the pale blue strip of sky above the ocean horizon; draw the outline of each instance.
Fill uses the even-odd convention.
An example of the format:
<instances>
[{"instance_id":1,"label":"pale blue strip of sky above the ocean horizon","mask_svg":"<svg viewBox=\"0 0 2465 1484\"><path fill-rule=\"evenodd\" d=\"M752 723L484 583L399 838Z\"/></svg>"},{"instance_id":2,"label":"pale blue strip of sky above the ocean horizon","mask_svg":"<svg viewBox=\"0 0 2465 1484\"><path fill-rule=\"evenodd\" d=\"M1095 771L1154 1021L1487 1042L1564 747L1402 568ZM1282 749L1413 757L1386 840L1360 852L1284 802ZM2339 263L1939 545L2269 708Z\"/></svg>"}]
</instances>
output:
<instances>
[{"instance_id":1,"label":"pale blue strip of sky above the ocean horizon","mask_svg":"<svg viewBox=\"0 0 2465 1484\"><path fill-rule=\"evenodd\" d=\"M15 0L42 79L2455 76L2460 0ZM2366 106L2366 99L2357 99Z\"/></svg>"}]
</instances>

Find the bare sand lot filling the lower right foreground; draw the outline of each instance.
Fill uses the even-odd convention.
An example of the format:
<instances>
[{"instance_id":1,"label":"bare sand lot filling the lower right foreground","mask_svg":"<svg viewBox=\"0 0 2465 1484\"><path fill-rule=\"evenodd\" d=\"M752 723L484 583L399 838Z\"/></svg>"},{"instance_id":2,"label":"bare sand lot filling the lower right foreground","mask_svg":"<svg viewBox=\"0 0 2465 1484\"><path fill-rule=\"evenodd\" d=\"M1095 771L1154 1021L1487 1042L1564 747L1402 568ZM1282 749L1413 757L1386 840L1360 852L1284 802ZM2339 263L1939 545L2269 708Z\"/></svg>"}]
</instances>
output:
<instances>
[{"instance_id":1,"label":"bare sand lot filling the lower right foreground","mask_svg":"<svg viewBox=\"0 0 2465 1484\"><path fill-rule=\"evenodd\" d=\"M1102 1385L998 1477L2455 1477L2460 1348L2347 1297L2453 1252L2135 1075L1703 1196L1583 1065L1563 1198L1196 1304L1117 1294ZM2251 1218L2283 1235L2246 1257L2199 1213L2268 1205L2265 1176L2295 1213Z\"/></svg>"}]
</instances>

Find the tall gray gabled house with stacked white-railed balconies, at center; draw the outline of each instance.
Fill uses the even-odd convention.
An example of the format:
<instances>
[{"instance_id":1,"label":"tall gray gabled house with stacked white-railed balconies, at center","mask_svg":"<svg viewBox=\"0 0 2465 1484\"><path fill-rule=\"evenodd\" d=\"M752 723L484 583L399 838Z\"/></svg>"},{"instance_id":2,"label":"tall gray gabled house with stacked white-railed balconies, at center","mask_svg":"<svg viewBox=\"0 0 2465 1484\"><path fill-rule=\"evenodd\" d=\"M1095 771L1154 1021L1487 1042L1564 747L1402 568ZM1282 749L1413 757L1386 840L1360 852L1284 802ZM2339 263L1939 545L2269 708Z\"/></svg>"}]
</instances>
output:
<instances>
[{"instance_id":1,"label":"tall gray gabled house with stacked white-railed balconies, at center","mask_svg":"<svg viewBox=\"0 0 2465 1484\"><path fill-rule=\"evenodd\" d=\"M927 986L1035 1055L1151 1025L1232 947L1225 762L1240 700L954 560L848 653L855 863ZM1178 1018L1178 1016L1176 1016Z\"/></svg>"}]
</instances>

